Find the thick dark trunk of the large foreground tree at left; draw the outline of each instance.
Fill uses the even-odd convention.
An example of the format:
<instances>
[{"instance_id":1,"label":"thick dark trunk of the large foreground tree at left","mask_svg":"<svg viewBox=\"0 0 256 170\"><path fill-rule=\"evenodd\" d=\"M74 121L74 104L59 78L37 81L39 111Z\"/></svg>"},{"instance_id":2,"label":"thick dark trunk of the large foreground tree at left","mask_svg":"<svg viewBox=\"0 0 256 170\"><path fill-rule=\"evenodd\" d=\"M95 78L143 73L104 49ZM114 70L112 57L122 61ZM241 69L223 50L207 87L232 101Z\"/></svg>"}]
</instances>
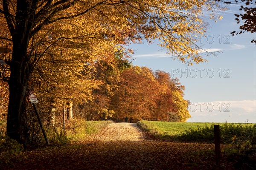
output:
<instances>
[{"instance_id":1,"label":"thick dark trunk of the large foreground tree at left","mask_svg":"<svg viewBox=\"0 0 256 170\"><path fill-rule=\"evenodd\" d=\"M3 2L6 6L6 1ZM7 116L7 135L19 142L21 141L23 127L23 115L26 109L26 91L29 85L29 56L27 54L30 32L33 20L29 15L29 4L26 0L17 1L17 12L15 25L12 25L8 16L6 17L10 32L12 34L12 60L10 62L9 79L9 105Z\"/></svg>"}]
</instances>

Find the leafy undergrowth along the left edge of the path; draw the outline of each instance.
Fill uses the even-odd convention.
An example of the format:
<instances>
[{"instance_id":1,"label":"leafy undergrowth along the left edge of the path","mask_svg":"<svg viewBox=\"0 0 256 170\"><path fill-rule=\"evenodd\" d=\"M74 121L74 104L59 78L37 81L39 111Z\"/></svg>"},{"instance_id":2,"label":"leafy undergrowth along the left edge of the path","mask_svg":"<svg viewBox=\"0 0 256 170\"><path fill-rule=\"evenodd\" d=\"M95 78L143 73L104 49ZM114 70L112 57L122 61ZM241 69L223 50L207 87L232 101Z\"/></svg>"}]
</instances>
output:
<instances>
[{"instance_id":1,"label":"leafy undergrowth along the left edge of the path","mask_svg":"<svg viewBox=\"0 0 256 170\"><path fill-rule=\"evenodd\" d=\"M55 125L46 127L45 131L50 145L64 145L70 142L78 142L90 138L90 135L99 133L104 127L112 121L85 121L81 119L73 119L66 122L66 130L64 132L63 126ZM34 150L36 148L44 147L46 142L41 130L38 132L39 137L36 143L19 144L13 139L10 139L4 133L0 136L0 153L1 155L20 153L23 150Z\"/></svg>"}]
</instances>

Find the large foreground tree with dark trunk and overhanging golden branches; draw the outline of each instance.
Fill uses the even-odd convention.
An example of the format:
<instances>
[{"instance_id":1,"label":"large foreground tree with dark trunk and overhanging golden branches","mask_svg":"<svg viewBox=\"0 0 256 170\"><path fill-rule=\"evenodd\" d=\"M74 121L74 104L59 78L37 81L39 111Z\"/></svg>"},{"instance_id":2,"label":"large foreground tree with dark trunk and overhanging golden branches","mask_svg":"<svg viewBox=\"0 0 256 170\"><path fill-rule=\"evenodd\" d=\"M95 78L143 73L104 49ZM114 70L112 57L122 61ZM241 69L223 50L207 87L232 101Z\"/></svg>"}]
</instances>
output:
<instances>
[{"instance_id":1,"label":"large foreground tree with dark trunk and overhanging golden branches","mask_svg":"<svg viewBox=\"0 0 256 170\"><path fill-rule=\"evenodd\" d=\"M205 31L201 18L202 10L204 7L211 9L214 2L214 0L1 1L0 16L5 19L4 25L8 26L8 31L1 30L7 33L0 38L7 40L12 47L12 57L6 60L10 70L10 75L6 79L9 85L7 134L12 139L20 141L29 80L43 58L49 61L52 56L59 55L61 51L67 49L67 54L72 54L72 57L80 56L81 59L108 58L108 55L97 53L96 49L94 51L87 49L89 45L87 40L93 37L97 37L98 40L108 40L108 43L103 41L103 44L99 43L96 47L105 49L104 45L107 45L116 50L119 48L118 45L124 48L125 46L122 45L131 41L140 42L144 38L148 41L159 39L160 46L167 48L169 54L182 62L198 63L204 61L199 54L201 50L195 43L196 35L201 35ZM92 31L84 31L84 27L90 27ZM58 47L53 48L58 43ZM92 52L90 55L86 53L89 51Z\"/></svg>"}]
</instances>

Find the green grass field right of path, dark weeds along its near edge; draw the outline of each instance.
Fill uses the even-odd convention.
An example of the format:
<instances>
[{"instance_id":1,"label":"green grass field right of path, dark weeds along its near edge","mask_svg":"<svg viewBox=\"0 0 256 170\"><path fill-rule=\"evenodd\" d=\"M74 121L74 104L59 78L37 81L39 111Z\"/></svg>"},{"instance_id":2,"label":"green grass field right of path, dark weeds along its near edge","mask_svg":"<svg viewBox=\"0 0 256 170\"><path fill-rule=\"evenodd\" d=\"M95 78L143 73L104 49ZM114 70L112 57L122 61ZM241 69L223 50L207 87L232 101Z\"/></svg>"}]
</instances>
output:
<instances>
[{"instance_id":1,"label":"green grass field right of path, dark weeds along its near edge","mask_svg":"<svg viewBox=\"0 0 256 170\"><path fill-rule=\"evenodd\" d=\"M256 124L140 121L137 125L150 136L162 140L211 142L213 125L220 125L225 141L239 134L256 136Z\"/></svg>"}]
</instances>

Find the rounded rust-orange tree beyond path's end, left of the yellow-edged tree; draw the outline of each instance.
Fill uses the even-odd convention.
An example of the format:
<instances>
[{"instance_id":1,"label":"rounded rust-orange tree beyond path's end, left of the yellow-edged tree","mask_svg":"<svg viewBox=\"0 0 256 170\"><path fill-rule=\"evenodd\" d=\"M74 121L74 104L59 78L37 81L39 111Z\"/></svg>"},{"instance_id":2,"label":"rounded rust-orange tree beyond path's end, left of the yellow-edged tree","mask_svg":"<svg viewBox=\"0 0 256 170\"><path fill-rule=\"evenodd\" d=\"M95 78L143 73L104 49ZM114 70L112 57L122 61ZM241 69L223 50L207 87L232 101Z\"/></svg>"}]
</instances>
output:
<instances>
[{"instance_id":1,"label":"rounded rust-orange tree beyond path's end, left of the yellow-edged tree","mask_svg":"<svg viewBox=\"0 0 256 170\"><path fill-rule=\"evenodd\" d=\"M122 72L119 88L111 98L115 118L150 119L154 109L156 81L149 68L133 66Z\"/></svg>"}]
</instances>

